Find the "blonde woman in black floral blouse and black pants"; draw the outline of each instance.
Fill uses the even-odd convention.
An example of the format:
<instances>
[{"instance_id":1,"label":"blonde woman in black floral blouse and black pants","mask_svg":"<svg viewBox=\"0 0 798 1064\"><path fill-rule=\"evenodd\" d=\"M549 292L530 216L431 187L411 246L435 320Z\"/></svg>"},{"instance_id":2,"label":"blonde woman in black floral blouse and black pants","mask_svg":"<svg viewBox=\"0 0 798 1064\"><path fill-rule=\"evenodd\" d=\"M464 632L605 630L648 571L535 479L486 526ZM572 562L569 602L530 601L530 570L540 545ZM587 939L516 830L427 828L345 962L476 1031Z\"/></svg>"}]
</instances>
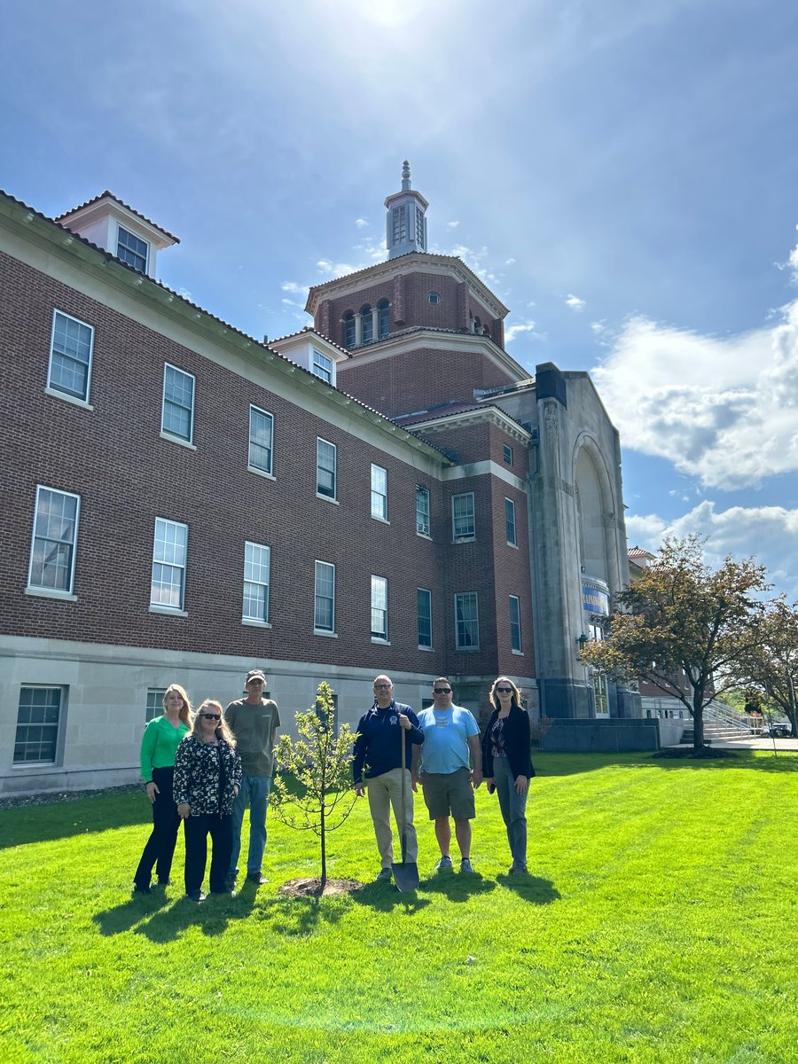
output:
<instances>
[{"instance_id":1,"label":"blonde woman in black floral blouse and black pants","mask_svg":"<svg viewBox=\"0 0 798 1064\"><path fill-rule=\"evenodd\" d=\"M232 893L226 880L233 850L231 813L240 782L242 759L221 703L205 699L174 758L173 795L185 821L185 893L192 901L205 897L202 880L209 834L213 842L211 893Z\"/></svg>"}]
</instances>

